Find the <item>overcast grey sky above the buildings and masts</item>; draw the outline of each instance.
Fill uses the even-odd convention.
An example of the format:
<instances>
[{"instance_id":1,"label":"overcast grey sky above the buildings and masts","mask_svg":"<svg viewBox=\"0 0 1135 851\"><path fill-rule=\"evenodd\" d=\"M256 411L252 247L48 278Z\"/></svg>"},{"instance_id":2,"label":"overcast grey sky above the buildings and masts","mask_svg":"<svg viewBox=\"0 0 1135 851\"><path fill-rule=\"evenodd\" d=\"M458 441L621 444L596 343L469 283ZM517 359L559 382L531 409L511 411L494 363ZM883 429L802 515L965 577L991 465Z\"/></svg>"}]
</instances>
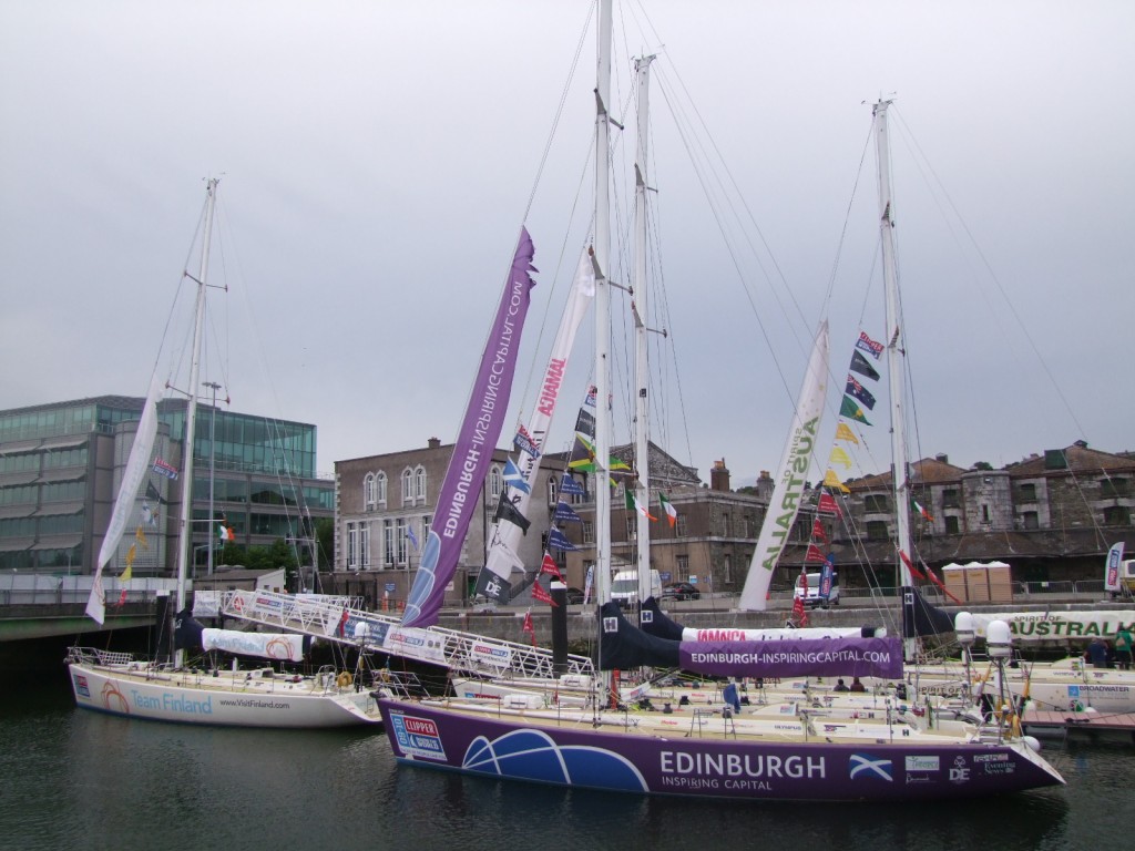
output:
<instances>
[{"instance_id":1,"label":"overcast grey sky above the buildings and masts","mask_svg":"<svg viewBox=\"0 0 1135 851\"><path fill-rule=\"evenodd\" d=\"M452 440L587 11L0 0L0 407L144 393L202 179L222 174L212 275L232 287L229 355L209 378L234 407L317 423L322 470ZM861 312L883 334L877 286L864 295L869 151L849 202L869 104L892 94L916 454L1000 466L1081 438L1135 448L1135 5L644 0L615 16L616 167L634 145L627 53L659 53L656 298L682 397L659 393L658 441L672 454L704 479L724 457L734 482L776 464L833 268L835 379ZM528 218L533 364L591 203L592 56L588 32ZM729 169L732 212L743 199L751 214L724 224L728 241L729 207L707 205L691 137L667 129L683 89L687 127L704 125L699 144ZM960 219L943 218L950 205ZM762 238L783 281L745 247ZM782 312L789 292L799 309ZM578 363L564 435L586 382ZM875 420L865 472L886 464Z\"/></svg>"}]
</instances>

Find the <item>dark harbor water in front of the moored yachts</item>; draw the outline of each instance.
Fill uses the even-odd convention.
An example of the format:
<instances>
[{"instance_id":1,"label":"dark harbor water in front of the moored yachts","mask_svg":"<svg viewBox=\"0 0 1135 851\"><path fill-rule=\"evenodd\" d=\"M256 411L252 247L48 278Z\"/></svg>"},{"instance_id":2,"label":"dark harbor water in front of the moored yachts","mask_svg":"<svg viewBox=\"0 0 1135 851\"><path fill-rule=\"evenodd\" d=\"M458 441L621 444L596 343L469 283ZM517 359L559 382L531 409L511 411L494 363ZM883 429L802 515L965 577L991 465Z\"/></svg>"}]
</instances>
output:
<instances>
[{"instance_id":1,"label":"dark harbor water in front of the moored yachts","mask_svg":"<svg viewBox=\"0 0 1135 851\"><path fill-rule=\"evenodd\" d=\"M66 673L0 693L0 848L1128 848L1135 745L1049 742L1063 789L953 803L693 802L398 766L377 731L131 722L75 708Z\"/></svg>"}]
</instances>

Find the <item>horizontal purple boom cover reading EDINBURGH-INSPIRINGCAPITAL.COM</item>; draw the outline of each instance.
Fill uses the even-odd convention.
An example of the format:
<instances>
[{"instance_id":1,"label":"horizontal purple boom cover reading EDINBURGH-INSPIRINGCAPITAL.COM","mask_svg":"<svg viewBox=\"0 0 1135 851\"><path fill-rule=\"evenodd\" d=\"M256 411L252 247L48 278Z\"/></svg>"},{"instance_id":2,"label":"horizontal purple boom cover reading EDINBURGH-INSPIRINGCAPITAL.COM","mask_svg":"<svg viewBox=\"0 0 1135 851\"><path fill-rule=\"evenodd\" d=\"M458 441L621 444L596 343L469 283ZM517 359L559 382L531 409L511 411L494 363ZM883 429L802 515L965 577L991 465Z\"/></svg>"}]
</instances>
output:
<instances>
[{"instance_id":1,"label":"horizontal purple boom cover reading EDINBURGH-INSPIRINGCAPITAL.COM","mask_svg":"<svg viewBox=\"0 0 1135 851\"><path fill-rule=\"evenodd\" d=\"M686 671L720 676L902 676L898 638L683 641Z\"/></svg>"}]
</instances>

